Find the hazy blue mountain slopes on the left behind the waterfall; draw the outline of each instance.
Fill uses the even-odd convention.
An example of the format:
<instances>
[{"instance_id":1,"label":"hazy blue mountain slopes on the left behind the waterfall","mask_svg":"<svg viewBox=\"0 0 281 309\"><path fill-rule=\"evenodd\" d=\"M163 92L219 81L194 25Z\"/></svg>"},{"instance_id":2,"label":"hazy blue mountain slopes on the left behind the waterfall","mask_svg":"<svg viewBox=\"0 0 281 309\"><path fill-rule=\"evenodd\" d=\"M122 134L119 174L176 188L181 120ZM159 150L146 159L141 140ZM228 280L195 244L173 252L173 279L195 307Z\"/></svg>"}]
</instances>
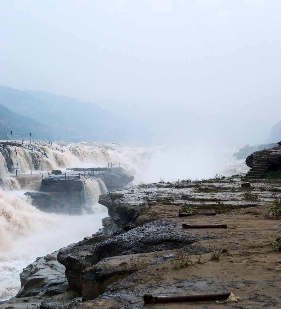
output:
<instances>
[{"instance_id":1,"label":"hazy blue mountain slopes on the left behind the waterfall","mask_svg":"<svg viewBox=\"0 0 281 309\"><path fill-rule=\"evenodd\" d=\"M0 127L2 135L8 134L5 128L10 130L12 127L15 134L23 134L23 132L16 132L18 129L23 130L23 125L17 124L17 122L22 122L27 131L30 130L35 134L32 135L35 139L44 139L48 136L51 139L73 142L82 140L86 142L142 142L149 136L145 128L139 129L138 125L120 116L115 116L96 104L45 91L22 91L0 86L0 104L18 115L14 116L14 120L10 118L9 125L4 125L6 123L4 115L0 115L0 123L3 123L2 129ZM20 115L28 117L28 120L24 117L19 118ZM33 129L34 124L37 130Z\"/></svg>"}]
</instances>

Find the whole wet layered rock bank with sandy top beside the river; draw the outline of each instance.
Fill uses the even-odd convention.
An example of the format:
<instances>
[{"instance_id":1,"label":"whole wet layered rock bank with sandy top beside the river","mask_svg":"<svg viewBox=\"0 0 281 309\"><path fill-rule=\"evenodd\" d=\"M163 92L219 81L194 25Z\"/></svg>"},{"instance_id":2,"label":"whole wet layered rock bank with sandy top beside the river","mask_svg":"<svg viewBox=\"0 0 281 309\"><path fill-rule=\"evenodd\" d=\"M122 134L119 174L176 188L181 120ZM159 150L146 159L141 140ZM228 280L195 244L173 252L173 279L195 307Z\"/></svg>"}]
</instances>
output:
<instances>
[{"instance_id":1,"label":"whole wet layered rock bank with sandy top beside the river","mask_svg":"<svg viewBox=\"0 0 281 309\"><path fill-rule=\"evenodd\" d=\"M241 308L278 307L280 254L271 250L271 240L280 226L265 214L268 203L280 195L281 180L241 184L240 175L101 195L99 202L109 214L104 228L38 258L21 274L18 295L0 308L133 309L145 308L146 293L219 290L246 300ZM216 216L178 217L182 206L204 212L221 203L225 212ZM183 223L223 223L228 228L183 229ZM212 259L214 253L218 259ZM194 308L213 308L214 303L202 305L192 303Z\"/></svg>"}]
</instances>

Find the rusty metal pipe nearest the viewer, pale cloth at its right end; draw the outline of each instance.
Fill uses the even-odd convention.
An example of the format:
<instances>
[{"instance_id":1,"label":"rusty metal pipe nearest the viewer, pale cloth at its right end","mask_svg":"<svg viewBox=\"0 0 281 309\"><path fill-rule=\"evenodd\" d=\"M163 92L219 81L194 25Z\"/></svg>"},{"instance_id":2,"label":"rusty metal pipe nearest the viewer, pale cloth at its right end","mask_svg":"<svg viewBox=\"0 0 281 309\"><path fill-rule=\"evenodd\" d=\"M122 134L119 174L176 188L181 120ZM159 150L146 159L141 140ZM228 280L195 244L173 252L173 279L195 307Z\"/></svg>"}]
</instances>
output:
<instances>
[{"instance_id":1,"label":"rusty metal pipe nearest the viewer, pale cloth at its right end","mask_svg":"<svg viewBox=\"0 0 281 309\"><path fill-rule=\"evenodd\" d=\"M217 300L227 299L231 292L213 293L213 294L195 294L195 295L159 295L153 296L152 294L143 295L145 304L152 303L176 303L176 302L194 302L202 300Z\"/></svg>"}]
</instances>

